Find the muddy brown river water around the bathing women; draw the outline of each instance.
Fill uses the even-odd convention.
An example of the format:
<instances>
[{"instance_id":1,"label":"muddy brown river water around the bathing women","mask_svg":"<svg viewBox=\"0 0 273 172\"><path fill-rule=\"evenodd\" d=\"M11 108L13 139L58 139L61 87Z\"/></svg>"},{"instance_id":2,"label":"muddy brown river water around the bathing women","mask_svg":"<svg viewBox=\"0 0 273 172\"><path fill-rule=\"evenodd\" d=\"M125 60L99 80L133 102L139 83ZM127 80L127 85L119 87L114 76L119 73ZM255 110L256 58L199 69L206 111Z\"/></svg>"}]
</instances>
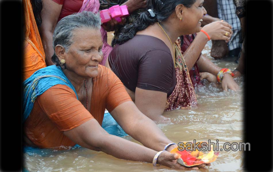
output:
<instances>
[{"instance_id":1,"label":"muddy brown river water around the bathing women","mask_svg":"<svg viewBox=\"0 0 273 172\"><path fill-rule=\"evenodd\" d=\"M111 34L108 33L109 43ZM214 60L209 56L209 49L207 44L202 53L218 66L231 70L237 67L238 64L232 58ZM235 81L240 86L237 92L224 92L214 83L207 83L196 89L197 107L164 112L171 123L158 126L174 142L219 140L220 148L224 142L243 142L243 77ZM125 139L137 142L130 136ZM23 158L24 167L28 171L183 171L164 166L153 169L150 163L121 160L82 147L74 150L49 150L43 156L24 154ZM242 160L242 151L221 151L210 167L199 171L244 171Z\"/></svg>"}]
</instances>

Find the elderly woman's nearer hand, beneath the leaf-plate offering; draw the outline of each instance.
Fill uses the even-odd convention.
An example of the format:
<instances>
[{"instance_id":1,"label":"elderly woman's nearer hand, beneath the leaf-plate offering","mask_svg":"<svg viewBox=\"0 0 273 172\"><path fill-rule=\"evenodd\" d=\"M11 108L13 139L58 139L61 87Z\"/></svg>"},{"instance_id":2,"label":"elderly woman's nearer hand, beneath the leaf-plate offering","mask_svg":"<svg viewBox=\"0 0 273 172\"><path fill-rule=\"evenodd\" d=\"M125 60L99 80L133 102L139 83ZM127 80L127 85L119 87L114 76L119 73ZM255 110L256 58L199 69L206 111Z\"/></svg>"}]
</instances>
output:
<instances>
[{"instance_id":1,"label":"elderly woman's nearer hand, beneath the leaf-plate offering","mask_svg":"<svg viewBox=\"0 0 273 172\"><path fill-rule=\"evenodd\" d=\"M185 169L185 170L198 170L199 168L203 168L206 165L209 164L201 164L201 165L196 165L192 167L185 167L179 163L177 163L177 159L179 156L175 153L169 153L169 152L162 152L159 157L157 158L157 163L160 165L164 165L166 167L170 167L172 169Z\"/></svg>"}]
</instances>

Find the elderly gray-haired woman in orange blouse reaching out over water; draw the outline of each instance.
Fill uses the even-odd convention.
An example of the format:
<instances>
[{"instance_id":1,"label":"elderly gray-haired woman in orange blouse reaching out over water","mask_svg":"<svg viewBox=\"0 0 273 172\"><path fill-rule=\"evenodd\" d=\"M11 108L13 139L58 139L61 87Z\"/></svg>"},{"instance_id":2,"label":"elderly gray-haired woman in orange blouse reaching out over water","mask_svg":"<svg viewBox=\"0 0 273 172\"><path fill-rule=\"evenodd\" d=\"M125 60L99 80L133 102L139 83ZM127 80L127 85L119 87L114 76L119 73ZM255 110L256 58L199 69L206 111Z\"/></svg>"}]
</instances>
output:
<instances>
[{"instance_id":1,"label":"elderly gray-haired woman in orange blouse reaching out over water","mask_svg":"<svg viewBox=\"0 0 273 172\"><path fill-rule=\"evenodd\" d=\"M138 110L118 77L99 65L100 25L99 15L86 11L64 17L56 25L52 56L56 65L36 71L24 82L25 143L40 148L79 144L120 159L155 160L176 169L204 167L178 164L178 155L168 152L176 144L170 145L172 141ZM143 145L103 130L105 108Z\"/></svg>"}]
</instances>

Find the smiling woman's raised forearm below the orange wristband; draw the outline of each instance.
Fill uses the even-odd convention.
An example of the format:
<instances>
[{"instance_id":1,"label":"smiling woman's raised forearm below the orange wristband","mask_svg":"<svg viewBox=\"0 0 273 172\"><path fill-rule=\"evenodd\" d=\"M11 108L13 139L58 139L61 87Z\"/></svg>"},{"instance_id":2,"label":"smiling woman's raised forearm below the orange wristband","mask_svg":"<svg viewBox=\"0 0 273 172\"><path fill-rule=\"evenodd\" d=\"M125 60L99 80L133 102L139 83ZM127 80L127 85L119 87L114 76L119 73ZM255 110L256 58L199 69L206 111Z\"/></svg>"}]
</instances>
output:
<instances>
[{"instance_id":1,"label":"smiling woman's raised forearm below the orange wristband","mask_svg":"<svg viewBox=\"0 0 273 172\"><path fill-rule=\"evenodd\" d=\"M188 69L191 69L193 67L200 53L205 47L207 41L208 41L207 36L204 33L199 32L197 33L197 36L195 37L191 45L183 53L183 57L187 64Z\"/></svg>"}]
</instances>

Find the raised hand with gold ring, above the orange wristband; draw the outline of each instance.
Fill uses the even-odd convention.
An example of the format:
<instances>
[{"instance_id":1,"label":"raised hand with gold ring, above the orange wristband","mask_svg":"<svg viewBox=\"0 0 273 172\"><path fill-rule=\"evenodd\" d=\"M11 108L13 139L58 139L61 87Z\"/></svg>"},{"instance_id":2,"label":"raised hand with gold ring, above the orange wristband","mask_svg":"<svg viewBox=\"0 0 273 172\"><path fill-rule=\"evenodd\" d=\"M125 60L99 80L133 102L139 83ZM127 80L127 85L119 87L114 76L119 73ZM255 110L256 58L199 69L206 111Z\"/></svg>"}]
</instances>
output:
<instances>
[{"instance_id":1,"label":"raised hand with gold ring, above the orange wristband","mask_svg":"<svg viewBox=\"0 0 273 172\"><path fill-rule=\"evenodd\" d=\"M225 40L227 43L233 34L231 28L230 24L221 20L205 25L202 30L209 34L211 40ZM226 33L228 33L227 36L225 35Z\"/></svg>"}]
</instances>

